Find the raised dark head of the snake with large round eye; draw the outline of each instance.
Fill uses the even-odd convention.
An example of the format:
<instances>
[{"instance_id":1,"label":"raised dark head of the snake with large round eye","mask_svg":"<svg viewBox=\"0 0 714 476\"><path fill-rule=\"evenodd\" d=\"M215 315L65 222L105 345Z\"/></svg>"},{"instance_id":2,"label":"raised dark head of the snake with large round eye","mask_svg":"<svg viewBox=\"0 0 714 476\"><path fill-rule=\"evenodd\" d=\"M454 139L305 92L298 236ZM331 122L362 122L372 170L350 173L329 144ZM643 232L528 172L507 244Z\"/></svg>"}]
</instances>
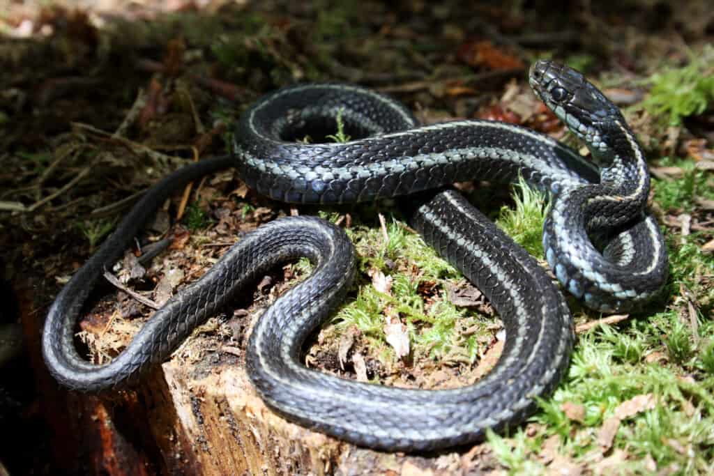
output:
<instances>
[{"instance_id":1,"label":"raised dark head of the snake with large round eye","mask_svg":"<svg viewBox=\"0 0 714 476\"><path fill-rule=\"evenodd\" d=\"M608 128L625 119L615 104L583 74L563 64L540 59L531 66L533 92L590 148L605 151Z\"/></svg>"}]
</instances>

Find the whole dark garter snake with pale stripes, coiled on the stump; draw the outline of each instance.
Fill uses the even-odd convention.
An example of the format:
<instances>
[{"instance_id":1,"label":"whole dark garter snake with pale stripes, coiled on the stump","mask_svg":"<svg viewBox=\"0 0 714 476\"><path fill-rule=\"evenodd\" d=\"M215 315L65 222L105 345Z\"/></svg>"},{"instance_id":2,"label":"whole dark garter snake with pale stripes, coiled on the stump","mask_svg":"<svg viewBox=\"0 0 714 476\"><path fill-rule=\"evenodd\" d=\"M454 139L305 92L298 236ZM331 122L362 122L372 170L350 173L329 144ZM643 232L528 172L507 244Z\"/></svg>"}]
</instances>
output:
<instances>
[{"instance_id":1,"label":"whole dark garter snake with pale stripes, coiled on the stump","mask_svg":"<svg viewBox=\"0 0 714 476\"><path fill-rule=\"evenodd\" d=\"M590 148L595 164L520 126L453 121L418 126L400 103L358 86L307 84L265 96L243 113L233 156L201 161L161 181L61 290L43 335L46 364L74 390L134 383L169 358L191 330L248 283L285 260L307 256L311 276L266 310L248 342L248 375L268 406L358 445L433 450L517 424L567 368L573 323L563 295L535 260L455 191L455 181L523 177L551 196L545 257L563 288L596 310L632 310L664 285L667 256L646 212L648 168L615 106L583 76L550 61L530 71L533 91ZM334 131L346 143L296 143ZM318 218L281 218L238 241L206 275L156 311L111 363L84 360L74 326L94 281L171 191L235 166L259 193L293 203L350 203L416 193L409 222L496 308L506 344L496 367L452 390L387 388L309 370L301 345L341 303L354 252L340 228ZM593 243L596 243L593 244Z\"/></svg>"}]
</instances>

